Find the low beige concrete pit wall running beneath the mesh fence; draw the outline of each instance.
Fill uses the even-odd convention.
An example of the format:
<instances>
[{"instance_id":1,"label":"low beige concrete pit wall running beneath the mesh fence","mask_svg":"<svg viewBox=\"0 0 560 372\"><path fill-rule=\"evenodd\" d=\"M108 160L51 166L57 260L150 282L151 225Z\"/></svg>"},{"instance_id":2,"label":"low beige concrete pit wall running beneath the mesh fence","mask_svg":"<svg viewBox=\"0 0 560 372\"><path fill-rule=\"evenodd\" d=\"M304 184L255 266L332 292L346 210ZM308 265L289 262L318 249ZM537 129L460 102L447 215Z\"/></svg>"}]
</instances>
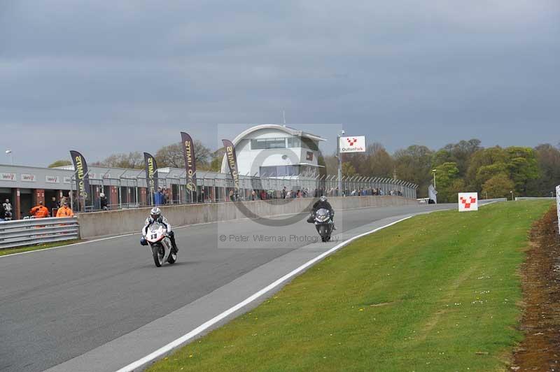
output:
<instances>
[{"instance_id":1,"label":"low beige concrete pit wall running beneath the mesh fence","mask_svg":"<svg viewBox=\"0 0 560 372\"><path fill-rule=\"evenodd\" d=\"M274 215L288 215L308 212L311 198L303 199L273 199L269 201L237 201L235 203L204 203L186 204L181 206L162 206L162 213L173 226L200 224L204 222L220 222L246 218L236 204L250 210L260 217ZM349 196L331 197L328 199L335 210L416 205L416 199L406 199L402 196ZM105 212L80 213L80 236L83 239L114 236L138 232L144 226L144 221L150 213L150 208L127 210L109 210Z\"/></svg>"}]
</instances>

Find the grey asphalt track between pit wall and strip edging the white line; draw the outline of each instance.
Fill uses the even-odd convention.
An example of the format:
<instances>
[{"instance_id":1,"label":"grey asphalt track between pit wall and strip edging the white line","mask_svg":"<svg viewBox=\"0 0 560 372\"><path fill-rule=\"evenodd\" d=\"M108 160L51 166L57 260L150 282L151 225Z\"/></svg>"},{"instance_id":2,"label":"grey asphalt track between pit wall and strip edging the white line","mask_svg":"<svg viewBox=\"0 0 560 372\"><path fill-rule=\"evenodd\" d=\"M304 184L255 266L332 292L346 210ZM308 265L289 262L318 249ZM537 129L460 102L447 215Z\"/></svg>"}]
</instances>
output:
<instances>
[{"instance_id":1,"label":"grey asphalt track between pit wall and strip edging the white line","mask_svg":"<svg viewBox=\"0 0 560 372\"><path fill-rule=\"evenodd\" d=\"M338 211L337 233L448 208L456 204ZM0 257L0 371L57 366L308 245L316 231L300 217L285 227L239 220L176 229L178 262L161 268L139 245L139 234Z\"/></svg>"}]
</instances>

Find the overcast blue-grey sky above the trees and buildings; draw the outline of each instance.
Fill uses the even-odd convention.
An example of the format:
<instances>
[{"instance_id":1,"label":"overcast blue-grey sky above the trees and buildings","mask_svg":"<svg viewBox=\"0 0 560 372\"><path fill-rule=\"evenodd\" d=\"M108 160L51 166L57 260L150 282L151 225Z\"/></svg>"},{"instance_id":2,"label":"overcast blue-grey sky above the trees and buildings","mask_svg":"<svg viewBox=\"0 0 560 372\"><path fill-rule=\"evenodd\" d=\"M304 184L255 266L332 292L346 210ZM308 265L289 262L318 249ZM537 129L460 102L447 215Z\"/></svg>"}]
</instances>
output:
<instances>
[{"instance_id":1,"label":"overcast blue-grey sky above the trees and buildings","mask_svg":"<svg viewBox=\"0 0 560 372\"><path fill-rule=\"evenodd\" d=\"M0 0L0 146L36 166L181 130L218 148L239 131L218 124L283 109L391 152L559 143L559 40L558 0Z\"/></svg>"}]
</instances>

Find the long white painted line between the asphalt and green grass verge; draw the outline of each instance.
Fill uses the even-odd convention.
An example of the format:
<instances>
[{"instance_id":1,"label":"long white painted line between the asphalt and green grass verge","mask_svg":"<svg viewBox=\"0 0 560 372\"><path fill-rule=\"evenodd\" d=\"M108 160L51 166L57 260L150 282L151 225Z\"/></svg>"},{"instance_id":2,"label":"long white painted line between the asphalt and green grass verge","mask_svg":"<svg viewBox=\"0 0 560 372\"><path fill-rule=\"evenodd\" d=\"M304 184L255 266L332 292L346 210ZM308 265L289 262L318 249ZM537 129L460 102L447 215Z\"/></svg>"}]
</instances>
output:
<instances>
[{"instance_id":1,"label":"long white painted line between the asphalt and green grass verge","mask_svg":"<svg viewBox=\"0 0 560 372\"><path fill-rule=\"evenodd\" d=\"M400 220L397 220L395 222L391 222L390 224L385 224L381 227L377 227L377 229L373 229L372 231L367 231L363 234L353 236L352 238L349 238L346 241L343 241L342 243L339 243L338 245L335 245L334 247L330 248L330 250L321 253L321 255L318 255L314 259L309 260L308 262L306 262L305 264L302 264L302 266L298 267L297 269L295 269L293 271L290 271L290 273L287 273L285 276L283 276L283 277L279 278L278 280L276 280L275 282L272 282L271 284L267 285L267 287L264 287L264 288L260 289L260 291L258 291L255 294L247 297L243 301L237 303L237 305L232 306L228 310L225 310L223 313L221 313L219 315L216 315L211 320L209 320L209 321L201 324L200 326L196 327L192 331L188 332L188 334L185 334L185 335L181 336L180 338L177 338L175 341L172 341L171 343L168 343L167 345L163 346L162 348L159 348L158 350L155 350L155 352L152 352L150 355L146 355L146 357L144 357L142 359L139 359L136 362L133 362L133 363L123 367L122 369L119 369L117 372L132 372L132 371L134 371L134 369L138 369L141 366L144 366L145 364L148 364L149 362L152 362L154 359L157 359L158 357L161 357L162 355L166 354L167 352L170 352L174 348L178 348L183 343L186 343L186 341L190 340L190 338L198 336L203 331L209 329L209 327L211 327L214 324L220 322L225 317L228 317L228 315L231 315L232 313L235 313L237 310L239 310L239 309L243 308L244 306L248 305L249 303L255 301L256 299L258 299L263 294L266 294L267 292L274 289L275 287L278 287L279 285L282 284L282 282L285 282L286 280L292 278L293 276L297 275L297 273L300 273L304 269L307 269L309 266L315 264L316 262L320 261L324 257L330 255L332 252L336 252L340 248L344 247L344 245L347 245L348 243L351 243L351 241L354 241L358 238L361 238L361 237L369 235L369 234L373 234L375 231L379 231L379 230L384 229L386 227L389 227L393 224L398 224L399 222L402 222L404 220L408 220L410 217L412 217L412 215L409 215L405 218L401 218Z\"/></svg>"}]
</instances>

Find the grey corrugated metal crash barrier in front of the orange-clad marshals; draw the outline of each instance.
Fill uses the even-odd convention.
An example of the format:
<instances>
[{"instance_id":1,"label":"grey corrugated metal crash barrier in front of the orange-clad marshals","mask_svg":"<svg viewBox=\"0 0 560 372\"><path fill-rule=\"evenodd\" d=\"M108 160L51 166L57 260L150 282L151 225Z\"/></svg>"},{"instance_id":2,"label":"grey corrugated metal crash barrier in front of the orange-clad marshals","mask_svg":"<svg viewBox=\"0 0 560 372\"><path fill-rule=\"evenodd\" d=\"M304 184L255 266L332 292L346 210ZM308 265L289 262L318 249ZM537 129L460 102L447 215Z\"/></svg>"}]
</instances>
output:
<instances>
[{"instance_id":1,"label":"grey corrugated metal crash barrier in front of the orange-clad marshals","mask_svg":"<svg viewBox=\"0 0 560 372\"><path fill-rule=\"evenodd\" d=\"M0 222L0 249L68 241L80 236L76 217L31 218Z\"/></svg>"}]
</instances>

